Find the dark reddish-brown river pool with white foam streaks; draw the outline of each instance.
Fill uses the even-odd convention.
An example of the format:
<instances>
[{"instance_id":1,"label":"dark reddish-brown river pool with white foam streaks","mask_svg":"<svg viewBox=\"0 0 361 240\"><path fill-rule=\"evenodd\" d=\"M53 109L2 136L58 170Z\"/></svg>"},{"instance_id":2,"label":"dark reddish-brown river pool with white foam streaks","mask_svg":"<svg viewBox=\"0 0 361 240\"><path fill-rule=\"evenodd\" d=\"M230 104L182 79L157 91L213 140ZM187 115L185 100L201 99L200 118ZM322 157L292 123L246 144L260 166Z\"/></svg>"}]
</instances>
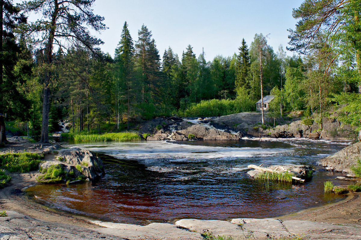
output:
<instances>
[{"instance_id":1,"label":"dark reddish-brown river pool with white foam streaks","mask_svg":"<svg viewBox=\"0 0 361 240\"><path fill-rule=\"evenodd\" d=\"M300 138L73 144L101 157L105 177L33 186L27 193L52 208L123 223L275 217L341 200L343 195L323 192L323 183L340 183L340 174L317 170L311 181L292 185L251 179L247 165L315 168L317 159L351 143Z\"/></svg>"}]
</instances>

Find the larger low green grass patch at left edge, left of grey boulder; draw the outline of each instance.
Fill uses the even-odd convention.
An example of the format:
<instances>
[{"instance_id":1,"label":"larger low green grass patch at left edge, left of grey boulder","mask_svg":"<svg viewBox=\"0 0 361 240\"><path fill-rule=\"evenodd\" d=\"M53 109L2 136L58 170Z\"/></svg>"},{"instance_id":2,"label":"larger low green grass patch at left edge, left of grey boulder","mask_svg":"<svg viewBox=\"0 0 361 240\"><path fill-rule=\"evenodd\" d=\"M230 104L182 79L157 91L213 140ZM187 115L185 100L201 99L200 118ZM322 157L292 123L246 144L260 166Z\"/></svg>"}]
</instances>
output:
<instances>
[{"instance_id":1,"label":"larger low green grass patch at left edge, left of grey boulder","mask_svg":"<svg viewBox=\"0 0 361 240\"><path fill-rule=\"evenodd\" d=\"M43 157L36 153L21 152L0 155L0 167L9 172L29 172L38 169Z\"/></svg>"}]
</instances>

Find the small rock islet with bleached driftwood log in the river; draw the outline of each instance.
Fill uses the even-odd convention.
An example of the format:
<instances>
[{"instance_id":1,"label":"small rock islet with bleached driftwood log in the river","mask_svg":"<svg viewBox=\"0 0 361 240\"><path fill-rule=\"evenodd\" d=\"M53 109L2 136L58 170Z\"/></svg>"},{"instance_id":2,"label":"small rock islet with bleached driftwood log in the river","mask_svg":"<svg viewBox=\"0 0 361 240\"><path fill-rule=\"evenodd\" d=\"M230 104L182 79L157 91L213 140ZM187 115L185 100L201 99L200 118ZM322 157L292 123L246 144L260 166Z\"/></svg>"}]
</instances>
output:
<instances>
[{"instance_id":1,"label":"small rock islet with bleached driftwood log in the river","mask_svg":"<svg viewBox=\"0 0 361 240\"><path fill-rule=\"evenodd\" d=\"M262 167L263 164L257 166L257 165L248 165L248 168L253 168L255 170L249 171L247 174L253 178L264 178L266 176L266 179L268 179L268 174L279 174L280 176L288 175L291 180L296 180L300 182L305 182L307 179L311 178L312 176L312 168L310 166L305 165L273 165L269 166L268 168ZM279 180L282 181L282 180ZM287 181L286 179L283 181Z\"/></svg>"}]
</instances>

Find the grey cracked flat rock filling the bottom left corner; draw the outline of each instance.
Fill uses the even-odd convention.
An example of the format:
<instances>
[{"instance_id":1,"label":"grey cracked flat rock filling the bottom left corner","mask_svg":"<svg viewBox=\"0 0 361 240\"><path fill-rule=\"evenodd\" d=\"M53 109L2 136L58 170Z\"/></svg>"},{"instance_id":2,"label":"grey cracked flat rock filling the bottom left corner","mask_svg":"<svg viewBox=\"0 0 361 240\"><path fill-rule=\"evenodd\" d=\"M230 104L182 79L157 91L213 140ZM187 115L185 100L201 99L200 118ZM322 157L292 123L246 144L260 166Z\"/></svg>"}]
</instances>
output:
<instances>
[{"instance_id":1,"label":"grey cracked flat rock filling the bottom left corner","mask_svg":"<svg viewBox=\"0 0 361 240\"><path fill-rule=\"evenodd\" d=\"M0 217L1 240L125 240L122 237L105 235L84 227L34 219L14 211L6 211L6 213L8 217Z\"/></svg>"}]
</instances>

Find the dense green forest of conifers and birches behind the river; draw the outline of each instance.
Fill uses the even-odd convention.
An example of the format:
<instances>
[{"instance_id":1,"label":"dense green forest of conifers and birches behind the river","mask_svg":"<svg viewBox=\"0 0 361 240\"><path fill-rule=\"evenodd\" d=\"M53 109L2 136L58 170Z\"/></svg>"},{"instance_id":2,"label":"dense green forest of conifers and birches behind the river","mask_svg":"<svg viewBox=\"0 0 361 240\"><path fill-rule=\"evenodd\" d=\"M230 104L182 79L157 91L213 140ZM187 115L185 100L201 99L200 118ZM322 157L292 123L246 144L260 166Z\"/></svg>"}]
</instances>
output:
<instances>
[{"instance_id":1,"label":"dense green forest of conifers and birches behind the river","mask_svg":"<svg viewBox=\"0 0 361 240\"><path fill-rule=\"evenodd\" d=\"M255 102L270 94L270 115L306 110L322 119L330 106L343 104L340 117L360 126L358 0L305 0L294 9L300 21L288 30L292 56L256 34L251 43L240 40L234 55L212 61L191 45L181 55L169 47L161 57L151 30L143 25L131 36L127 22L114 57L102 52L103 42L88 32L106 30L104 18L92 13L94 0L0 2L0 113L26 123L41 142L60 119L77 131L122 130L156 116L255 111ZM27 22L33 12L42 20Z\"/></svg>"}]
</instances>

